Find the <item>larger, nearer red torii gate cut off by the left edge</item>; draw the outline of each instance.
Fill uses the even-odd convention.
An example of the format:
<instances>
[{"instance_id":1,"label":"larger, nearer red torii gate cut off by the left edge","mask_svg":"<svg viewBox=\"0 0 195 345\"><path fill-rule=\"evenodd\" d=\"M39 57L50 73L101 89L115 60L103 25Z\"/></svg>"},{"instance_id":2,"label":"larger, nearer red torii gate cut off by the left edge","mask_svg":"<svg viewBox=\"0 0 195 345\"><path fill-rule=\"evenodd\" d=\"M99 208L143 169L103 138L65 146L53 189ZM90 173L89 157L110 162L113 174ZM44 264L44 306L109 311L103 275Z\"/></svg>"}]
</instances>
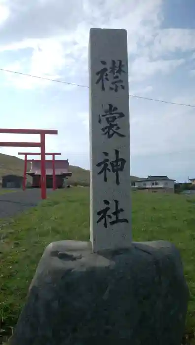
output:
<instances>
[{"instance_id":1,"label":"larger, nearer red torii gate cut off by the left edge","mask_svg":"<svg viewBox=\"0 0 195 345\"><path fill-rule=\"evenodd\" d=\"M46 199L45 135L58 134L57 130L0 128L0 133L40 134L40 142L0 142L4 147L40 147L41 152L41 198Z\"/></svg>"}]
</instances>

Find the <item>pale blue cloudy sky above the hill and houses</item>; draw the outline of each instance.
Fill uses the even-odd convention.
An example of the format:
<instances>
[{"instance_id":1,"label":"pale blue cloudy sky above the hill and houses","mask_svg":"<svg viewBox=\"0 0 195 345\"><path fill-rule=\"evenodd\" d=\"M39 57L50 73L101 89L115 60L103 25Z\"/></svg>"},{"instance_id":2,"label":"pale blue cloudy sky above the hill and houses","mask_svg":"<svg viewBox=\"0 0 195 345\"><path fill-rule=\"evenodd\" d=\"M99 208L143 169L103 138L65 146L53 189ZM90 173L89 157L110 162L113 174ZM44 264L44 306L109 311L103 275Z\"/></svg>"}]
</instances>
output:
<instances>
[{"instance_id":1,"label":"pale blue cloudy sky above the hill and houses","mask_svg":"<svg viewBox=\"0 0 195 345\"><path fill-rule=\"evenodd\" d=\"M0 127L57 129L46 150L89 169L90 28L127 30L130 95L195 105L194 13L194 0L0 0L0 69L86 86L0 70ZM131 175L195 178L195 107L130 97L130 155Z\"/></svg>"}]
</instances>

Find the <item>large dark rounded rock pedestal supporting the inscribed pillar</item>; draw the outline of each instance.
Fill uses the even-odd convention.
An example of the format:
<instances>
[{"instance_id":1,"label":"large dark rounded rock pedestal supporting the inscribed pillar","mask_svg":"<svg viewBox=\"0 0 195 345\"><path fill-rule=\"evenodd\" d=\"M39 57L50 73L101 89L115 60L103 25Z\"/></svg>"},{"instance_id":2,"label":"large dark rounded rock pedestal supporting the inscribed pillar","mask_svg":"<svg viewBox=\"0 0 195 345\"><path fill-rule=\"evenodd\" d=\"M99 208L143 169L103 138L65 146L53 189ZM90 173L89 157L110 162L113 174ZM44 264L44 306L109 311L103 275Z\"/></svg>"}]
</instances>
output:
<instances>
[{"instance_id":1,"label":"large dark rounded rock pedestal supporting the inscribed pillar","mask_svg":"<svg viewBox=\"0 0 195 345\"><path fill-rule=\"evenodd\" d=\"M92 253L88 242L45 250L11 345L180 345L188 288L169 242Z\"/></svg>"}]
</instances>

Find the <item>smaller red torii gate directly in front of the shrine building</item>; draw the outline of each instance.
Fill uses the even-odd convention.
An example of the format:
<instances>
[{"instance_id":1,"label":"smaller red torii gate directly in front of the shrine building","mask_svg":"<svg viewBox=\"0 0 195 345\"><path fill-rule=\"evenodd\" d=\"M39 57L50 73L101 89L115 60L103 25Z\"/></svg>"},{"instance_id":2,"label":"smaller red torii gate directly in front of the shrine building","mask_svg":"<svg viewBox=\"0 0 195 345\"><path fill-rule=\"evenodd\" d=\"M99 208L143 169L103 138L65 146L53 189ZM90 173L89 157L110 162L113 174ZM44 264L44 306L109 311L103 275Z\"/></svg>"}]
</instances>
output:
<instances>
[{"instance_id":1,"label":"smaller red torii gate directly in front of the shrine building","mask_svg":"<svg viewBox=\"0 0 195 345\"><path fill-rule=\"evenodd\" d=\"M24 176L23 176L23 190L26 189L26 173L27 173L27 162L32 162L32 159L27 159L28 155L36 155L39 156L39 152L18 152L18 155L24 155ZM45 156L52 156L52 160L46 159L45 162L52 161L52 171L53 171L53 190L56 189L56 173L55 173L55 156L61 156L61 153L56 152L47 152ZM35 162L40 162L39 159L34 159Z\"/></svg>"}]
</instances>

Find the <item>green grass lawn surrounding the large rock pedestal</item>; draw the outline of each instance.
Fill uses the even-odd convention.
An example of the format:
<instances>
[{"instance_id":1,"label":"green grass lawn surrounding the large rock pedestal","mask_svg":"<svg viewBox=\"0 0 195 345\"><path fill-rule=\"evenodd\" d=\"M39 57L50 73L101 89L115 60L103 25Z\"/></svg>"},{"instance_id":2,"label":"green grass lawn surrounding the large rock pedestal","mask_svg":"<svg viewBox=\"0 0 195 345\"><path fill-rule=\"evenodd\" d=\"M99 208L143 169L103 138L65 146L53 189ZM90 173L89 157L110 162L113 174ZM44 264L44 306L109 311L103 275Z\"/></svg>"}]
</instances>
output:
<instances>
[{"instance_id":1,"label":"green grass lawn surrounding the large rock pedestal","mask_svg":"<svg viewBox=\"0 0 195 345\"><path fill-rule=\"evenodd\" d=\"M186 344L195 344L195 197L133 193L133 240L168 240L180 249L190 288ZM39 207L0 221L0 328L14 327L44 248L89 240L89 189L56 191ZM185 343L184 343L185 344Z\"/></svg>"}]
</instances>

